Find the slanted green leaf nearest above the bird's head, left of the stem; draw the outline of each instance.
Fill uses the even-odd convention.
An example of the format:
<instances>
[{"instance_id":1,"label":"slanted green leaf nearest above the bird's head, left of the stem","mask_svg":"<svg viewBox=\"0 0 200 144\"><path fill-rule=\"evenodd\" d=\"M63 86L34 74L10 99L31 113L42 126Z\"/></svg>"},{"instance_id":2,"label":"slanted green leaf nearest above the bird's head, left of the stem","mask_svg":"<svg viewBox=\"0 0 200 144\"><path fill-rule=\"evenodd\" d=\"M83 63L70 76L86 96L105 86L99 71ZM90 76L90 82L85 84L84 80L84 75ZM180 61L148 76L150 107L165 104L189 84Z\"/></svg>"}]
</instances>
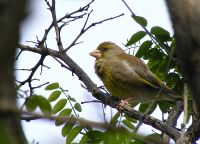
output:
<instances>
[{"instance_id":1,"label":"slanted green leaf nearest above the bird's head, left of the stem","mask_svg":"<svg viewBox=\"0 0 200 144\"><path fill-rule=\"evenodd\" d=\"M138 31L132 35L131 39L127 42L126 46L130 46L141 40L143 37L146 36L146 32Z\"/></svg>"}]
</instances>

